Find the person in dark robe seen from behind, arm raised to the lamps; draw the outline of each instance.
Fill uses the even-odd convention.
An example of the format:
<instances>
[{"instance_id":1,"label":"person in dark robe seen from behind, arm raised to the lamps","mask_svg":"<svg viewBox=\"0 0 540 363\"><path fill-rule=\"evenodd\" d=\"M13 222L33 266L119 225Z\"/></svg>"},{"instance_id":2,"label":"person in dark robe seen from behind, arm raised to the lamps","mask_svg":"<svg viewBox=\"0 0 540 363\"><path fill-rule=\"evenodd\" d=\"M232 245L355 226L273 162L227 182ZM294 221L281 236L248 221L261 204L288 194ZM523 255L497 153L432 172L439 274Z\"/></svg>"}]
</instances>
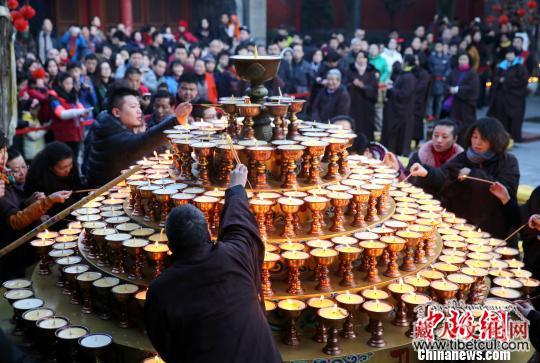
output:
<instances>
[{"instance_id":1,"label":"person in dark robe seen from behind, arm raised to the lamps","mask_svg":"<svg viewBox=\"0 0 540 363\"><path fill-rule=\"evenodd\" d=\"M166 232L174 263L148 289L146 331L173 362L281 362L261 291L264 245L244 185L231 172L218 242L204 215L186 205L171 211Z\"/></svg>"}]
</instances>

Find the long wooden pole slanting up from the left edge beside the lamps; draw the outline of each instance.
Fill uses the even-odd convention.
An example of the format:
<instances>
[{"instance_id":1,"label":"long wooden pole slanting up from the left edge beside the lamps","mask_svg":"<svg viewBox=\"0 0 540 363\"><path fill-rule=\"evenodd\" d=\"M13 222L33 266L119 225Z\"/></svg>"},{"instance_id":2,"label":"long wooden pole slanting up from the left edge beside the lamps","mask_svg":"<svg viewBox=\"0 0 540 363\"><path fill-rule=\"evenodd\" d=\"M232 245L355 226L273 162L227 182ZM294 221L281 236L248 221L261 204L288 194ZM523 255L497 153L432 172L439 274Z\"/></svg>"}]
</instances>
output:
<instances>
[{"instance_id":1,"label":"long wooden pole slanting up from the left edge beside the lamps","mask_svg":"<svg viewBox=\"0 0 540 363\"><path fill-rule=\"evenodd\" d=\"M16 249L17 247L20 247L22 246L23 244L25 244L26 242L28 242L31 238L33 238L36 234L38 234L39 232L42 232L44 231L45 229L51 227L52 225L58 223L59 221L61 221L62 219L64 219L65 217L67 217L71 212L73 212L75 209L78 209L78 208L81 208L83 205L85 205L86 203L90 202L92 199L94 199L95 197L97 197L98 195L100 194L103 194L104 192L106 192L107 190L111 189L112 187L114 187L116 184L120 183L121 181L124 181L126 180L127 178L129 178L131 175L135 174L136 172L140 171L142 168L141 165L136 165L134 166L132 169L129 169L128 171L126 171L125 173L123 173L122 175L114 178L113 180L111 180L110 182L108 182L107 184L105 184L104 186L102 186L101 188L97 189L95 192L93 192L92 194L90 195L87 195L86 197L84 197L83 199L79 200L77 203L69 206L68 208L64 209L63 211L61 211L60 213L58 213L57 215L51 217L50 219L46 220L45 222L43 222L42 224L40 224L39 226L37 226L36 228L32 229L31 231L29 231L28 233L26 233L24 236L18 238L17 240L15 240L14 242L10 243L9 245L7 245L6 247L2 248L0 250L0 258L4 257L5 255L7 255L8 253L10 253L11 251L13 251L14 249Z\"/></svg>"}]
</instances>

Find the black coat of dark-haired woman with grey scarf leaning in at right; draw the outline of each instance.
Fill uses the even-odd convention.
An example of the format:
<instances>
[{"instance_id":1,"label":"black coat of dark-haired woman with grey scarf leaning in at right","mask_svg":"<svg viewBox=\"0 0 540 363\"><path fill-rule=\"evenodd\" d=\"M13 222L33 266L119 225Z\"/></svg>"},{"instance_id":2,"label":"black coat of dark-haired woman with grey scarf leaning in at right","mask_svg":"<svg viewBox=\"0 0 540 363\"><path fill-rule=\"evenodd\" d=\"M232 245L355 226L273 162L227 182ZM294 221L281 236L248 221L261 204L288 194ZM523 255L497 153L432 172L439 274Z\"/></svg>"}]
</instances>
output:
<instances>
[{"instance_id":1,"label":"black coat of dark-haired woman with grey scarf leaning in at right","mask_svg":"<svg viewBox=\"0 0 540 363\"><path fill-rule=\"evenodd\" d=\"M475 164L469 161L464 151L438 169L426 167L426 184L441 188L441 202L446 209L493 237L505 238L510 232L511 221L506 218L503 205L491 194L489 184L467 179L459 181L459 171L463 168L471 169L472 177L500 182L515 198L519 185L516 157L504 152L482 164Z\"/></svg>"}]
</instances>

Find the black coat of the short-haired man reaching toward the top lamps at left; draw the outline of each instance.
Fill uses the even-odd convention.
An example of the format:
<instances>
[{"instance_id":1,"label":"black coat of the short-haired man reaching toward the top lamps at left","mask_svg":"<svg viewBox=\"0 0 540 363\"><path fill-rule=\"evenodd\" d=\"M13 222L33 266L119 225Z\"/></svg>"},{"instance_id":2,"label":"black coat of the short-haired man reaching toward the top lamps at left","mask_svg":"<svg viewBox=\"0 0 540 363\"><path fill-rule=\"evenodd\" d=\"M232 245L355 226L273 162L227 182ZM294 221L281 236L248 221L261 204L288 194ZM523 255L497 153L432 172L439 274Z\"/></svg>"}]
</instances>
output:
<instances>
[{"instance_id":1,"label":"black coat of the short-haired man reaching toward the top lamps at left","mask_svg":"<svg viewBox=\"0 0 540 363\"><path fill-rule=\"evenodd\" d=\"M164 120L141 134L134 134L108 112L99 114L87 136L85 170L90 187L99 187L120 175L135 161L166 142L163 131L176 124L176 117Z\"/></svg>"}]
</instances>

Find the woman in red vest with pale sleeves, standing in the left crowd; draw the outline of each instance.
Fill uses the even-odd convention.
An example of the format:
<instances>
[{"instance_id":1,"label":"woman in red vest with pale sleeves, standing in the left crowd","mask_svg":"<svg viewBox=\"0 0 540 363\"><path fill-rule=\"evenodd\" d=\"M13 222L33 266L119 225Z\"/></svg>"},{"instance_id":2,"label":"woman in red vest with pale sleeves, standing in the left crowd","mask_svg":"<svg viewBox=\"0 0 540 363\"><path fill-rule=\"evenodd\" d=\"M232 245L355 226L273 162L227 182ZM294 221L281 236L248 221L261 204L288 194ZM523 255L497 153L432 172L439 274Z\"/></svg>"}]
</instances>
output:
<instances>
[{"instance_id":1,"label":"woman in red vest with pale sleeves, standing in the left crowd","mask_svg":"<svg viewBox=\"0 0 540 363\"><path fill-rule=\"evenodd\" d=\"M77 158L83 139L81 118L88 116L92 110L85 109L79 102L73 88L73 78L68 73L58 76L58 84L50 91L50 96L54 139L66 143Z\"/></svg>"}]
</instances>

